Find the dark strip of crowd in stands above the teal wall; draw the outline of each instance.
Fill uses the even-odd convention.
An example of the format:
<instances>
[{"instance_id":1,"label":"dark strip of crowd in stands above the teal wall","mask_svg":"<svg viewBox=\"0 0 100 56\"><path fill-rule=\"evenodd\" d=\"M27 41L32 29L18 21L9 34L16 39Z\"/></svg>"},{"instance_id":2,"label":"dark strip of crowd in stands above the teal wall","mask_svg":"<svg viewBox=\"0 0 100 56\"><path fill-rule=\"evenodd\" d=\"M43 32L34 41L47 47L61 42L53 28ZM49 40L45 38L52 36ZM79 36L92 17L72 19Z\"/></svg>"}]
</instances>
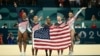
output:
<instances>
[{"instance_id":1,"label":"dark strip of crowd in stands above the teal wall","mask_svg":"<svg viewBox=\"0 0 100 56\"><path fill-rule=\"evenodd\" d=\"M0 0L0 6L12 6L13 2L20 6L100 7L100 0Z\"/></svg>"}]
</instances>

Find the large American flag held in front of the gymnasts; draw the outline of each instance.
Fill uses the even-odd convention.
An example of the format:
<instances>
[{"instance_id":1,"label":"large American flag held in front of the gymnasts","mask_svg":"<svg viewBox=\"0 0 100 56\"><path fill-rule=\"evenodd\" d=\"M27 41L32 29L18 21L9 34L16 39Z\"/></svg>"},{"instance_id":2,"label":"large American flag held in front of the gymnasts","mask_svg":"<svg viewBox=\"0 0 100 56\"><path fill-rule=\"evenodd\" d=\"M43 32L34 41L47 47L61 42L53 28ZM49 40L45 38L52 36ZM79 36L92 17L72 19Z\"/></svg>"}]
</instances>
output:
<instances>
[{"instance_id":1,"label":"large American flag held in front of the gymnasts","mask_svg":"<svg viewBox=\"0 0 100 56\"><path fill-rule=\"evenodd\" d=\"M58 27L42 28L34 33L34 48L37 49L65 49L71 45L70 29L62 24Z\"/></svg>"}]
</instances>

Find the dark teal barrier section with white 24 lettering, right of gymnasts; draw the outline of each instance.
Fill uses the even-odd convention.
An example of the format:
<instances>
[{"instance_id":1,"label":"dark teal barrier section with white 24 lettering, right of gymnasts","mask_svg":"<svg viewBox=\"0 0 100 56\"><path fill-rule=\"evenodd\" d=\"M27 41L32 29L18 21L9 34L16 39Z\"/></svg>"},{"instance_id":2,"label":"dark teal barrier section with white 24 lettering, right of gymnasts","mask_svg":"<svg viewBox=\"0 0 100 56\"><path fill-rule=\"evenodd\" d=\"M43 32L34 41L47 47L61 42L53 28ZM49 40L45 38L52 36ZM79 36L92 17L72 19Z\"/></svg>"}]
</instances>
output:
<instances>
[{"instance_id":1,"label":"dark teal barrier section with white 24 lettering, right of gymnasts","mask_svg":"<svg viewBox=\"0 0 100 56\"><path fill-rule=\"evenodd\" d=\"M80 44L96 43L100 44L100 29L75 29L80 36Z\"/></svg>"}]
</instances>

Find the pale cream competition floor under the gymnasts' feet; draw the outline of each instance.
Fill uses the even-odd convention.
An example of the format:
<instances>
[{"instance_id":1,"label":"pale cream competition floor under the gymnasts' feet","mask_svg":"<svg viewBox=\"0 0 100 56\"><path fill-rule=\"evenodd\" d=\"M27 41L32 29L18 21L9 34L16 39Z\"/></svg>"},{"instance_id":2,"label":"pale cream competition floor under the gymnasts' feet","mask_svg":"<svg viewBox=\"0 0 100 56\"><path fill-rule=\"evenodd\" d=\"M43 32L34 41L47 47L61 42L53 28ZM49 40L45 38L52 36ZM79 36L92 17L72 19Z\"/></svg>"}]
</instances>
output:
<instances>
[{"instance_id":1,"label":"pale cream competition floor under the gymnasts' feet","mask_svg":"<svg viewBox=\"0 0 100 56\"><path fill-rule=\"evenodd\" d=\"M26 56L32 56L31 48L31 45L27 46ZM68 49L65 49L63 55L67 56L67 54ZM75 45L74 55L100 55L100 45ZM20 56L18 45L0 45L0 56ZM45 51L39 50L37 56L45 56ZM57 56L57 51L53 51L52 56Z\"/></svg>"}]
</instances>

